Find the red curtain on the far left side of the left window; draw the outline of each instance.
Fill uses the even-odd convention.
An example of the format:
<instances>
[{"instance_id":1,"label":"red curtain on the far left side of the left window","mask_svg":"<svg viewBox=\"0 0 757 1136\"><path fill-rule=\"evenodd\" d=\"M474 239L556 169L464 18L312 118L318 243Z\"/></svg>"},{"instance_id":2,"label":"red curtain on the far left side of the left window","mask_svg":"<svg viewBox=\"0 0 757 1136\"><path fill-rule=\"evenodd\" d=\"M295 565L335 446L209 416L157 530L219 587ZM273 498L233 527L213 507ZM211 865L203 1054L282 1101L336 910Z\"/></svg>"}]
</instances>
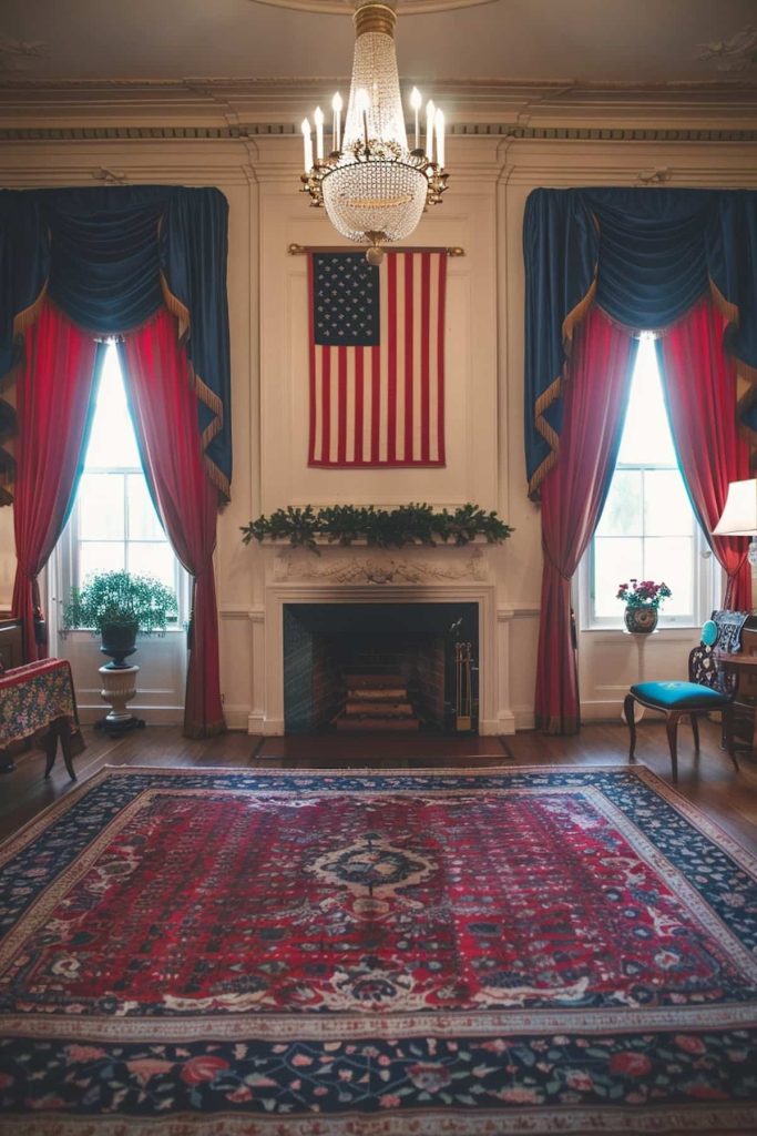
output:
<instances>
[{"instance_id":1,"label":"red curtain on the far left side of the left window","mask_svg":"<svg viewBox=\"0 0 757 1136\"><path fill-rule=\"evenodd\" d=\"M53 304L26 331L16 382L18 435L14 501L16 582L12 609L24 620L26 658L44 659L34 617L41 616L37 575L66 524L92 396L96 343Z\"/></svg>"}]
</instances>

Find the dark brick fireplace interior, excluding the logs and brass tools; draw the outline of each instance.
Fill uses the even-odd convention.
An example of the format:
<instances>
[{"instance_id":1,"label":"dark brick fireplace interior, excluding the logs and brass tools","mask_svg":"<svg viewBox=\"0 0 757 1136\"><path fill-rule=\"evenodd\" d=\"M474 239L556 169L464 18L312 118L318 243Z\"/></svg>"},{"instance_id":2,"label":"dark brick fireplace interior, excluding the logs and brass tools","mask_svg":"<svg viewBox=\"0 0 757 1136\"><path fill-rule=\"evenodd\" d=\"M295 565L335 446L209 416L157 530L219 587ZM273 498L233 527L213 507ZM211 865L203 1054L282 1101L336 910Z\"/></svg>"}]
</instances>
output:
<instances>
[{"instance_id":1,"label":"dark brick fireplace interior, excluding the logs and brass tools","mask_svg":"<svg viewBox=\"0 0 757 1136\"><path fill-rule=\"evenodd\" d=\"M377 685L384 680L392 686L389 680L399 678L412 704L415 724L411 728L455 732L456 641L472 644L476 661L477 603L285 604L286 733L335 728L345 712L348 676L376 676ZM476 688L474 680L474 695ZM476 709L474 698L474 730ZM368 720L362 725L390 728L398 724Z\"/></svg>"}]
</instances>

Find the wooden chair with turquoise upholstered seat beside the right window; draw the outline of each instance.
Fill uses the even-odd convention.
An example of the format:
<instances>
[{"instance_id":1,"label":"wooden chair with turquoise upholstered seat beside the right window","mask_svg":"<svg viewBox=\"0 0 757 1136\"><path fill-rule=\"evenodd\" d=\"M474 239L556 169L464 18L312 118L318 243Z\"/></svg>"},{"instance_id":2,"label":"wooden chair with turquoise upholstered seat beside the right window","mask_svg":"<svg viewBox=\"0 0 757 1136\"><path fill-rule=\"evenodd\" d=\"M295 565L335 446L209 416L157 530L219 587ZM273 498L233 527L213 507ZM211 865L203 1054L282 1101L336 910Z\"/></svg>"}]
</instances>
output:
<instances>
[{"instance_id":1,"label":"wooden chair with turquoise upholstered seat beside the right window","mask_svg":"<svg viewBox=\"0 0 757 1136\"><path fill-rule=\"evenodd\" d=\"M715 628L713 633L710 629ZM624 712L629 726L630 750L629 760L633 761L636 750L634 705L647 710L657 710L665 715L667 744L671 751L673 782L679 779L678 770L678 729L681 718L689 718L693 734L695 752L699 753L699 725L697 719L720 710L723 713L723 747L727 750L735 768L739 763L733 751L732 730L730 727L730 705L733 700L733 684L722 676L714 657L717 642L717 628L707 620L703 628L703 642L689 654L689 682L637 683L625 695Z\"/></svg>"}]
</instances>

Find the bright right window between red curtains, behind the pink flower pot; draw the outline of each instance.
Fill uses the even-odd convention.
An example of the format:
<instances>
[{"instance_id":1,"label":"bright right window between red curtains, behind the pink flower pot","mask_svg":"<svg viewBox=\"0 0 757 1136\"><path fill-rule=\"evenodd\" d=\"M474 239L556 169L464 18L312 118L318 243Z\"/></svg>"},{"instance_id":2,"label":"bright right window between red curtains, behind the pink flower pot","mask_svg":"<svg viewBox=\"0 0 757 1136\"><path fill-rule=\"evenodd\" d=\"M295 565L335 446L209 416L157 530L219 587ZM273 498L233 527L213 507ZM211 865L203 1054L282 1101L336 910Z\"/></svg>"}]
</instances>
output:
<instances>
[{"instance_id":1,"label":"bright right window between red curtains, behind the pink flower pot","mask_svg":"<svg viewBox=\"0 0 757 1136\"><path fill-rule=\"evenodd\" d=\"M673 595L659 626L693 626L710 604L709 550L679 470L654 339L644 335L607 501L589 546L589 627L617 627L617 587L632 577L664 580Z\"/></svg>"}]
</instances>

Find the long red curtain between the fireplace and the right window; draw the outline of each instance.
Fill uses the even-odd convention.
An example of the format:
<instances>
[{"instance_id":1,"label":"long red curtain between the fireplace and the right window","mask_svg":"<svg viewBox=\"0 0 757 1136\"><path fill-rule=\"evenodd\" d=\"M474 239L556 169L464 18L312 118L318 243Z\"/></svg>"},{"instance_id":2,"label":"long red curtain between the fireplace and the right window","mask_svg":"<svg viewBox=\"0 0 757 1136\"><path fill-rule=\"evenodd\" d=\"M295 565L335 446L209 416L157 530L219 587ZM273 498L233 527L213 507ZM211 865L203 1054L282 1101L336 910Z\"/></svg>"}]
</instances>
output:
<instances>
[{"instance_id":1,"label":"long red curtain between the fireplace and the right window","mask_svg":"<svg viewBox=\"0 0 757 1136\"><path fill-rule=\"evenodd\" d=\"M560 458L541 488L536 725L545 734L575 734L580 727L571 578L615 469L637 348L637 340L594 308L577 329L566 368Z\"/></svg>"}]
</instances>

